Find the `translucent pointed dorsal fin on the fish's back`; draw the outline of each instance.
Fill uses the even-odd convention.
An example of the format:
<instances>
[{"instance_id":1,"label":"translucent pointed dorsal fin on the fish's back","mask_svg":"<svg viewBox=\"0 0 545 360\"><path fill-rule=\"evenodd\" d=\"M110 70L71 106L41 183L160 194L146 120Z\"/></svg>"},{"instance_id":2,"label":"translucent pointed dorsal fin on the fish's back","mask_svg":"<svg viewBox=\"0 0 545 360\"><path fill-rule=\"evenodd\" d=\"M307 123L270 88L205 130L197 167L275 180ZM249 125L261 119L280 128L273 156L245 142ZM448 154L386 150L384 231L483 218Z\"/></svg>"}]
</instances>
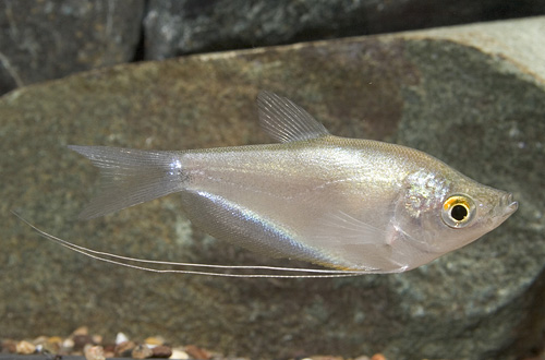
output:
<instances>
[{"instance_id":1,"label":"translucent pointed dorsal fin on the fish's back","mask_svg":"<svg viewBox=\"0 0 545 360\"><path fill-rule=\"evenodd\" d=\"M281 143L329 135L322 123L286 97L259 92L257 108L262 129Z\"/></svg>"}]
</instances>

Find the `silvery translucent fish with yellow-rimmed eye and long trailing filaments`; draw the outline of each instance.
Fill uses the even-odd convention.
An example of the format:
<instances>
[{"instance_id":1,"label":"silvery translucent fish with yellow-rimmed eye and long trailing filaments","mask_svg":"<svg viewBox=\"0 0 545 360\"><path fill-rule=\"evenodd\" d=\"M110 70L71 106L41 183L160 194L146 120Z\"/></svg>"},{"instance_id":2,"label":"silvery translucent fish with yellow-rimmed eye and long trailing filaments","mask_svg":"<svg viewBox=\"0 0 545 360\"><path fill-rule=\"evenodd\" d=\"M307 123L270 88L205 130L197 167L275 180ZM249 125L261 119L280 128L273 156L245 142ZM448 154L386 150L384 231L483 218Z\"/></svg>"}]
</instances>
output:
<instances>
[{"instance_id":1,"label":"silvery translucent fish with yellow-rimmed eye and long trailing filaments","mask_svg":"<svg viewBox=\"0 0 545 360\"><path fill-rule=\"evenodd\" d=\"M101 173L101 192L80 218L177 193L187 218L210 236L342 276L416 268L518 208L511 193L419 149L335 136L275 93L259 92L257 109L276 143L186 151L69 145Z\"/></svg>"}]
</instances>

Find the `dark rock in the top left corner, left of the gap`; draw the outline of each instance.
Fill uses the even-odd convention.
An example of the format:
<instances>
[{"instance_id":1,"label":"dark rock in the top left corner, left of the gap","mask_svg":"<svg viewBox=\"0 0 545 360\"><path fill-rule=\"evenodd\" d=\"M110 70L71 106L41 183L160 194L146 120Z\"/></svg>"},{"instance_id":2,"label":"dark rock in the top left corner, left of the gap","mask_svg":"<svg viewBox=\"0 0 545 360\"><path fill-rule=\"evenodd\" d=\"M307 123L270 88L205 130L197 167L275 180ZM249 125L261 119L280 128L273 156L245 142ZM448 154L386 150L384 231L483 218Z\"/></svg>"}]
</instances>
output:
<instances>
[{"instance_id":1,"label":"dark rock in the top left corner, left of the gap","mask_svg":"<svg viewBox=\"0 0 545 360\"><path fill-rule=\"evenodd\" d=\"M1 1L0 94L131 61L144 0Z\"/></svg>"}]
</instances>

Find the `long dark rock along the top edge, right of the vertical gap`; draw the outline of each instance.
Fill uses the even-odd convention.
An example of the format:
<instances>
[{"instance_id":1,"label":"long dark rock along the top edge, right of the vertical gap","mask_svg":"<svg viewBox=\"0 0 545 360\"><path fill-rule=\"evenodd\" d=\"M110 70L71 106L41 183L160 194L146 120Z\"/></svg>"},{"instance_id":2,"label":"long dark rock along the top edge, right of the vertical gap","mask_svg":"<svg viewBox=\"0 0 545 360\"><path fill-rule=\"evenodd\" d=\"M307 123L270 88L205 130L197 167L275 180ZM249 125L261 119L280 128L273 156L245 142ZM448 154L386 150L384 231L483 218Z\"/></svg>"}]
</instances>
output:
<instances>
[{"instance_id":1,"label":"long dark rock along the top edge, right of the vertical gap","mask_svg":"<svg viewBox=\"0 0 545 360\"><path fill-rule=\"evenodd\" d=\"M145 57L255 48L301 40L399 32L545 14L519 0L150 0Z\"/></svg>"}]
</instances>

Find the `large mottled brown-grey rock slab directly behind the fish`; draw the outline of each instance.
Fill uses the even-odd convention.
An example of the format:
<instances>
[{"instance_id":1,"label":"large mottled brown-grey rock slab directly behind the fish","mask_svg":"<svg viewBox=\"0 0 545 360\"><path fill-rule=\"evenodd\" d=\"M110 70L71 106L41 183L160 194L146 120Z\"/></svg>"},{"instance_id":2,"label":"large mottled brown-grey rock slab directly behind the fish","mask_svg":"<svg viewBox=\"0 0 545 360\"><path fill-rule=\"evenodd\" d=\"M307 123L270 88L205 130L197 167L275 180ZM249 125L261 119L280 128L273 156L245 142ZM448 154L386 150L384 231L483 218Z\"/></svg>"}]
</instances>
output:
<instances>
[{"instance_id":1,"label":"large mottled brown-grey rock slab directly behind the fish","mask_svg":"<svg viewBox=\"0 0 545 360\"><path fill-rule=\"evenodd\" d=\"M545 17L186 57L92 71L0 99L0 337L153 334L252 358L295 352L511 359L545 328ZM180 149L267 142L270 89L335 134L426 151L509 190L498 229L399 275L258 280L160 276L46 242L216 264L293 265L191 227L177 195L90 221L97 171L66 144ZM541 278L540 278L541 276ZM534 284L532 286L532 284Z\"/></svg>"}]
</instances>

